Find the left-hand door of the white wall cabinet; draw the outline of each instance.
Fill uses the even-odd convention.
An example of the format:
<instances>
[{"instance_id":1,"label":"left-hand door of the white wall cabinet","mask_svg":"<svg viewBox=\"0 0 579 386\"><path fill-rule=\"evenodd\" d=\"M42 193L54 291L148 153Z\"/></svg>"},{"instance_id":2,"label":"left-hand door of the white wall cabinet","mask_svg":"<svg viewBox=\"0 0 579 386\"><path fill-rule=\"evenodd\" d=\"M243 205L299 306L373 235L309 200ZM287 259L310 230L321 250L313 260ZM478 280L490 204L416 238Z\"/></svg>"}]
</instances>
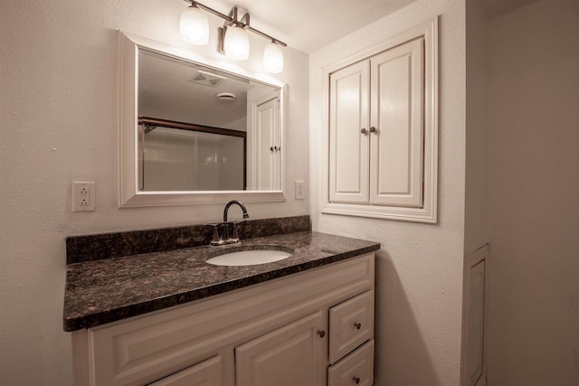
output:
<instances>
[{"instance_id":1,"label":"left-hand door of the white wall cabinet","mask_svg":"<svg viewBox=\"0 0 579 386\"><path fill-rule=\"evenodd\" d=\"M330 202L368 202L368 76L368 61L330 75Z\"/></svg>"}]
</instances>

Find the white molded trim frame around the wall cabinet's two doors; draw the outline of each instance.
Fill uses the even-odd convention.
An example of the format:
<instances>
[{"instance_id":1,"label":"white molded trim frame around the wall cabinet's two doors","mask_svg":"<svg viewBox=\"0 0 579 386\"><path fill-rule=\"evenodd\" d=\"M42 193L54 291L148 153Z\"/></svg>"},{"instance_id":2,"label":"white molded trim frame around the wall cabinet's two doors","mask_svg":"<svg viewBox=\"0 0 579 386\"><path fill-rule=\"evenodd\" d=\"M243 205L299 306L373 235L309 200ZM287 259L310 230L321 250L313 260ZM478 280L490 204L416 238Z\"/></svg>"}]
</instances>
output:
<instances>
[{"instance_id":1,"label":"white molded trim frame around the wall cabinet's two doors","mask_svg":"<svg viewBox=\"0 0 579 386\"><path fill-rule=\"evenodd\" d=\"M357 61L393 49L403 43L416 39L424 42L424 100L423 100L423 198L418 207L375 205L369 203L331 202L329 199L329 141L330 137L330 75ZM419 221L436 223L438 221L438 17L430 22L400 33L363 52L328 65L323 69L323 126L322 137L322 175L324 181L320 192L322 213L342 214L380 219Z\"/></svg>"}]
</instances>

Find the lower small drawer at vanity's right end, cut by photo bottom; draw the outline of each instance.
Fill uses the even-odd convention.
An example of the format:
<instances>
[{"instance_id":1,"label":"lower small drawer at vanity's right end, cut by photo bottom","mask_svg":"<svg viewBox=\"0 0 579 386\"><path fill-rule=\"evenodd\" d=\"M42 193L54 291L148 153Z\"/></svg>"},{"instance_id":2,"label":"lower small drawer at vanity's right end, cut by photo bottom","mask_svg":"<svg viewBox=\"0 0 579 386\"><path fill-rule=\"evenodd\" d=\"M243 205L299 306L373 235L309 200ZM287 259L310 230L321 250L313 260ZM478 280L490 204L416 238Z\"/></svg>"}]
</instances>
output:
<instances>
[{"instance_id":1,"label":"lower small drawer at vanity's right end, cut by photo bottom","mask_svg":"<svg viewBox=\"0 0 579 386\"><path fill-rule=\"evenodd\" d=\"M374 341L358 348L327 369L328 386L372 386L374 384Z\"/></svg>"}]
</instances>

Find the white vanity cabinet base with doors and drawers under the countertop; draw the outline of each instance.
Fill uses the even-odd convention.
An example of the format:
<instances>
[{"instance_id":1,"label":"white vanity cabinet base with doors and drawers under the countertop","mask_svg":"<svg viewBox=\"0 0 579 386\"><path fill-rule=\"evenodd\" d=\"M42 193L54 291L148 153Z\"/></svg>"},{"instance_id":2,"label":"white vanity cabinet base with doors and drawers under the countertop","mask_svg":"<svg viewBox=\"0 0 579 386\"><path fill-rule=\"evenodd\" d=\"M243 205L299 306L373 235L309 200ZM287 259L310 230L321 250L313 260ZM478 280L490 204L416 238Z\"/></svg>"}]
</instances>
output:
<instances>
[{"instance_id":1,"label":"white vanity cabinet base with doors and drawers under the countertop","mask_svg":"<svg viewBox=\"0 0 579 386\"><path fill-rule=\"evenodd\" d=\"M374 259L76 331L75 384L371 385ZM340 381L350 374L350 383Z\"/></svg>"}]
</instances>

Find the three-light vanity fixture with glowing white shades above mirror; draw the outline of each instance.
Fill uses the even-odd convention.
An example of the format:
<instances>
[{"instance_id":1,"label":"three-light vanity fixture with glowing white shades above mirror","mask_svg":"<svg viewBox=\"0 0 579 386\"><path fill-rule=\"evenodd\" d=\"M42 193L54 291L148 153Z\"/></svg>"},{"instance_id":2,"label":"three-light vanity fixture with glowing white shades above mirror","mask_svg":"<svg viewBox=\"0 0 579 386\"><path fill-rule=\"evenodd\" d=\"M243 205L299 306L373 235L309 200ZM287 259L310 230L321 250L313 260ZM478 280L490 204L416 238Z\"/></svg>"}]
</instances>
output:
<instances>
[{"instance_id":1,"label":"three-light vanity fixture with glowing white shades above mirror","mask_svg":"<svg viewBox=\"0 0 579 386\"><path fill-rule=\"evenodd\" d=\"M285 42L271 37L266 33L256 30L250 25L249 12L243 14L241 19L237 17L237 7L233 6L229 14L222 14L195 0L185 0L191 3L181 14L180 32L185 42L193 44L206 44L209 39L209 24L206 15L202 11L221 17L225 22L219 28L217 51L237 61L245 61L249 58L250 42L248 32L256 33L270 43L263 51L263 66L266 71L281 72L283 70L283 52L281 47L286 47ZM199 14L203 14L204 18ZM200 38L197 36L204 36Z\"/></svg>"}]
</instances>

